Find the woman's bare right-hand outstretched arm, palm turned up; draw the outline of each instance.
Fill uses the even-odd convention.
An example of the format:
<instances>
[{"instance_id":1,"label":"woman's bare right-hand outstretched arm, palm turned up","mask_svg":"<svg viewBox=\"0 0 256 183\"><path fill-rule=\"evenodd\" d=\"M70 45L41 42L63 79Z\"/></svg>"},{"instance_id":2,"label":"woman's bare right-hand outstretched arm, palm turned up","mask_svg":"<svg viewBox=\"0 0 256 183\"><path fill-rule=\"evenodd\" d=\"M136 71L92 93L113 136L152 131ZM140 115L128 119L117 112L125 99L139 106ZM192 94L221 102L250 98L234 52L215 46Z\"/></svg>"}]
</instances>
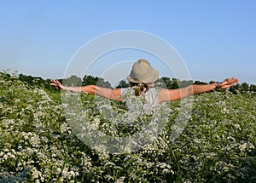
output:
<instances>
[{"instance_id":1,"label":"woman's bare right-hand outstretched arm, palm turned up","mask_svg":"<svg viewBox=\"0 0 256 183\"><path fill-rule=\"evenodd\" d=\"M213 89L228 89L237 83L236 77L227 78L222 83L192 84L183 89L162 89L158 95L158 102L179 100L194 94L201 94Z\"/></svg>"}]
</instances>

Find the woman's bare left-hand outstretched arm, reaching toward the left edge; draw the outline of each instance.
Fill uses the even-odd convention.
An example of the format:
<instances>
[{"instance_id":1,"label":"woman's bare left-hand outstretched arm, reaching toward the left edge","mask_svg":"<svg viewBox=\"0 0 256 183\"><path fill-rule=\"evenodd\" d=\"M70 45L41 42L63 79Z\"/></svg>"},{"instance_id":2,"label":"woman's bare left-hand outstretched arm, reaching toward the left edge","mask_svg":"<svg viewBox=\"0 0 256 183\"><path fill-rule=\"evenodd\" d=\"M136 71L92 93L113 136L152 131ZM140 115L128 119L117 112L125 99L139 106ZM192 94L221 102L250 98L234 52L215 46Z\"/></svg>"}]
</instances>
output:
<instances>
[{"instance_id":1,"label":"woman's bare left-hand outstretched arm, reaching toward the left edge","mask_svg":"<svg viewBox=\"0 0 256 183\"><path fill-rule=\"evenodd\" d=\"M56 89L63 89L65 91L83 92L84 94L96 94L110 100L121 101L121 89L107 89L96 85L87 85L81 87L67 87L63 86L55 79L50 80L50 85L55 86Z\"/></svg>"}]
</instances>

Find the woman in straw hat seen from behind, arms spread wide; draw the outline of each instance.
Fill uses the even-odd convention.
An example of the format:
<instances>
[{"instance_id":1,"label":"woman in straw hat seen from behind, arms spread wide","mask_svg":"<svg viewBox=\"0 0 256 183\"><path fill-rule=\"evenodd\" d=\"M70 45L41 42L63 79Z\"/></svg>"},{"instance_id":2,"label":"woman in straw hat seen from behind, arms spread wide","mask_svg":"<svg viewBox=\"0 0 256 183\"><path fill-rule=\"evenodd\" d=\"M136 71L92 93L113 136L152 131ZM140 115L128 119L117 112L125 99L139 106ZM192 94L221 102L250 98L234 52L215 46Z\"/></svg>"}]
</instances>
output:
<instances>
[{"instance_id":1,"label":"woman in straw hat seen from behind, arms spread wide","mask_svg":"<svg viewBox=\"0 0 256 183\"><path fill-rule=\"evenodd\" d=\"M235 77L227 78L222 83L211 83L203 85L189 85L182 89L160 89L154 88L154 82L159 78L159 71L156 71L147 60L137 60L132 66L131 73L127 77L130 87L126 89L106 89L96 85L82 87L63 86L58 81L51 79L51 85L56 89L63 89L73 92L84 92L84 94L96 94L110 100L124 100L125 95L133 94L143 96L150 106L160 105L162 102L179 100L193 94L201 94L213 89L227 89L238 82Z\"/></svg>"}]
</instances>

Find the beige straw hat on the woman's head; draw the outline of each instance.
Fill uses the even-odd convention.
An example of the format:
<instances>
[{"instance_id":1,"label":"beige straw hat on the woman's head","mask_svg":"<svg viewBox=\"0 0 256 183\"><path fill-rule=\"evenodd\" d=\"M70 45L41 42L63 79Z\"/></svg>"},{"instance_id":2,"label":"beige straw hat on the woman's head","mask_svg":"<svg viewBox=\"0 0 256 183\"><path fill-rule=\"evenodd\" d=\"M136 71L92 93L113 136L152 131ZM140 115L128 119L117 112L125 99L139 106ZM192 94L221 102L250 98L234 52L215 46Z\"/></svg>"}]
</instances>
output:
<instances>
[{"instance_id":1,"label":"beige straw hat on the woman's head","mask_svg":"<svg viewBox=\"0 0 256 183\"><path fill-rule=\"evenodd\" d=\"M132 68L131 73L127 76L132 83L154 83L159 78L159 71L156 71L148 60L137 60Z\"/></svg>"}]
</instances>

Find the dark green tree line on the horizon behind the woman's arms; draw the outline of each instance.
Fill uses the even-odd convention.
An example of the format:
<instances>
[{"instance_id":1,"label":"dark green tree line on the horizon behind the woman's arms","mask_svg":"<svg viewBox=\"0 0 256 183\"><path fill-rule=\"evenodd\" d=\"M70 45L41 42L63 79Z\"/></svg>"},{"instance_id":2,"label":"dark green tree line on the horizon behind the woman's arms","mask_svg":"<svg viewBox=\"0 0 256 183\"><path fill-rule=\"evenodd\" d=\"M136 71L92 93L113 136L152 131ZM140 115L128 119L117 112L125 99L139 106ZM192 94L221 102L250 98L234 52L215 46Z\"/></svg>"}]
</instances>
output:
<instances>
[{"instance_id":1,"label":"dark green tree line on the horizon behind the woman's arms","mask_svg":"<svg viewBox=\"0 0 256 183\"><path fill-rule=\"evenodd\" d=\"M11 74L9 74L7 71L4 71L4 76L9 79L14 79ZM43 79L42 77L32 77L27 76L24 74L19 74L15 78L18 78L20 81L32 84L37 87L42 87L44 89L48 89L49 91L55 91L54 87L52 87L50 83L50 79ZM77 77L75 75L72 75L71 77L67 78L61 78L58 79L61 83L64 83L68 86L84 86L84 85L97 85L101 87L105 87L108 89L112 88L126 88L129 86L129 83L126 80L121 80L117 86L111 86L111 83L106 81L102 77L94 77L90 75L84 75L83 78ZM165 89L179 89L186 87L190 84L207 84L205 82L201 81L186 81L186 80L179 80L177 78L170 78L170 77L160 77L156 83L162 83L162 87ZM214 83L214 81L211 81L209 83ZM249 83L236 83L236 85L230 87L229 91L233 94L239 94L239 93L245 93L245 92L253 92L256 94L256 85L255 84L249 84Z\"/></svg>"}]
</instances>

